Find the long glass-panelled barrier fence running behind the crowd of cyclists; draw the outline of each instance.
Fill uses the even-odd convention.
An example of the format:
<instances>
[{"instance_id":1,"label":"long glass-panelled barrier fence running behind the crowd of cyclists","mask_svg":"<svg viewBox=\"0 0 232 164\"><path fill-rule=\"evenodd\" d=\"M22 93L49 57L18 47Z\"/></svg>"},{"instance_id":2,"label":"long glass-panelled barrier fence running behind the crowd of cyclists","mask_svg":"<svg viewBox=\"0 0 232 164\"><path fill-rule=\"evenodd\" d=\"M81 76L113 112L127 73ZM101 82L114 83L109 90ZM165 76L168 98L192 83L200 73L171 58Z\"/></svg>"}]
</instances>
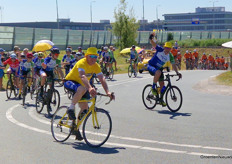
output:
<instances>
[{"instance_id":1,"label":"long glass-panelled barrier fence running behind the crowd of cyclists","mask_svg":"<svg viewBox=\"0 0 232 164\"><path fill-rule=\"evenodd\" d=\"M149 45L150 31L138 31L137 43L139 46ZM167 41L167 31L157 32L158 41ZM232 32L170 32L174 40L186 39L232 39ZM103 45L114 45L116 37L110 31L91 31L89 30L65 30L65 29L42 29L42 28L24 28L24 27L6 27L0 26L0 47L7 51L13 50L14 45L21 49L28 48L32 50L39 40L51 40L55 46L64 50L67 46L73 49L81 46L86 49L89 46L100 48Z\"/></svg>"}]
</instances>

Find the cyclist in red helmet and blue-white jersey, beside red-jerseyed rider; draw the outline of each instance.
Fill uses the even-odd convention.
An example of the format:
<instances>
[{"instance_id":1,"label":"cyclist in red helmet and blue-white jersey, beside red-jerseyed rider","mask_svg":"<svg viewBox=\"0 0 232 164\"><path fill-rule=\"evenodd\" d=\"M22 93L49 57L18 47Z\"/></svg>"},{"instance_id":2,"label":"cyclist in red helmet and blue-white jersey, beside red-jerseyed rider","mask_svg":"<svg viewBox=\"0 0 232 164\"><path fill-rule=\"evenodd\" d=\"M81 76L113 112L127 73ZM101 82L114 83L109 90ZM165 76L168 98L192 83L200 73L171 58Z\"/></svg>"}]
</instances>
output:
<instances>
[{"instance_id":1,"label":"cyclist in red helmet and blue-white jersey, beside red-jerseyed rider","mask_svg":"<svg viewBox=\"0 0 232 164\"><path fill-rule=\"evenodd\" d=\"M34 63L32 62L32 58L33 58L33 54L32 53L27 53L27 59L22 59L21 62L20 62L20 73L21 73L21 76L20 76L20 79L21 79L21 82L20 82L20 89L19 89L19 99L21 99L21 91L22 91L22 88L23 88L23 85L24 85L24 81L23 79L26 78L26 77L29 77L30 76L30 73L31 72L34 72ZM29 87L31 85L31 79L29 80Z\"/></svg>"}]
</instances>

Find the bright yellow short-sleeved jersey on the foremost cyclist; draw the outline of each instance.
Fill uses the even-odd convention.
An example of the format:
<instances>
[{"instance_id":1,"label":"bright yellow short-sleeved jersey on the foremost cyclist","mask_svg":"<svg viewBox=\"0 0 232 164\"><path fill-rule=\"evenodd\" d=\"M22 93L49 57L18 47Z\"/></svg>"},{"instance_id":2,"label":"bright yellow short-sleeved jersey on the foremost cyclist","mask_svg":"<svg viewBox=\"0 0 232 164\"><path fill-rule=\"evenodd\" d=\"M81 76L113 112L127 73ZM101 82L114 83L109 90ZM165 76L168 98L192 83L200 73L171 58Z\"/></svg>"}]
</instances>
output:
<instances>
[{"instance_id":1,"label":"bright yellow short-sleeved jersey on the foremost cyclist","mask_svg":"<svg viewBox=\"0 0 232 164\"><path fill-rule=\"evenodd\" d=\"M85 76L88 78L88 80L90 80L94 73L96 75L101 73L101 68L100 68L98 63L95 63L94 65L89 65L87 63L87 59L83 58L75 64L75 66L72 68L72 70L65 77L65 80L75 81L75 82L81 84L82 86L84 86L84 84L81 80L81 77L79 75L79 71L84 71Z\"/></svg>"}]
</instances>

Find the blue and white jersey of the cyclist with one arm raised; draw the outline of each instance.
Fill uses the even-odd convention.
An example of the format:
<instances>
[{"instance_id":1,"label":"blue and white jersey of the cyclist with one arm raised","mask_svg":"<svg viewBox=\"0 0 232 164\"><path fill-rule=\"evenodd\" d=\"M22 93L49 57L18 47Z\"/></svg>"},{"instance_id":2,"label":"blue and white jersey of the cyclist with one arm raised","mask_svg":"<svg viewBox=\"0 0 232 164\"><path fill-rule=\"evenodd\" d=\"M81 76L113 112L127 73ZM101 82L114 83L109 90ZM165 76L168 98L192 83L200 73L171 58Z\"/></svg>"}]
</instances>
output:
<instances>
[{"instance_id":1,"label":"blue and white jersey of the cyclist with one arm raised","mask_svg":"<svg viewBox=\"0 0 232 164\"><path fill-rule=\"evenodd\" d=\"M163 47L157 45L155 49L156 49L156 53L151 58L151 60L149 60L148 62L149 65L157 69L160 69L167 61L170 61L171 64L175 63L173 55L171 53L165 55Z\"/></svg>"}]
</instances>

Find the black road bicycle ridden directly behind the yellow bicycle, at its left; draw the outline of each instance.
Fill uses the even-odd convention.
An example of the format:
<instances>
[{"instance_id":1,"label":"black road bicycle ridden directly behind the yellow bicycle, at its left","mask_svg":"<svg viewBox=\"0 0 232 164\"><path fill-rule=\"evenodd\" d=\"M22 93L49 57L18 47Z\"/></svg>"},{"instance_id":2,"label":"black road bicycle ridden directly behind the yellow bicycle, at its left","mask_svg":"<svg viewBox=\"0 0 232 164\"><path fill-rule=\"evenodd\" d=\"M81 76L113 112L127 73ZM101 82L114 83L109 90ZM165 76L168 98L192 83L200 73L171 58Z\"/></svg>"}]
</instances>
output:
<instances>
[{"instance_id":1,"label":"black road bicycle ridden directly behind the yellow bicycle, at its left","mask_svg":"<svg viewBox=\"0 0 232 164\"><path fill-rule=\"evenodd\" d=\"M43 111L44 106L47 105L47 112L48 115L51 117L59 108L60 93L58 92L58 90L55 89L54 84L56 81L62 80L54 79L51 76L46 79L42 97L40 96L41 89L38 88L35 100L36 111L38 113L41 113Z\"/></svg>"}]
</instances>

